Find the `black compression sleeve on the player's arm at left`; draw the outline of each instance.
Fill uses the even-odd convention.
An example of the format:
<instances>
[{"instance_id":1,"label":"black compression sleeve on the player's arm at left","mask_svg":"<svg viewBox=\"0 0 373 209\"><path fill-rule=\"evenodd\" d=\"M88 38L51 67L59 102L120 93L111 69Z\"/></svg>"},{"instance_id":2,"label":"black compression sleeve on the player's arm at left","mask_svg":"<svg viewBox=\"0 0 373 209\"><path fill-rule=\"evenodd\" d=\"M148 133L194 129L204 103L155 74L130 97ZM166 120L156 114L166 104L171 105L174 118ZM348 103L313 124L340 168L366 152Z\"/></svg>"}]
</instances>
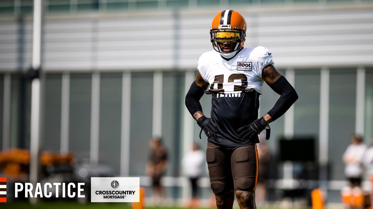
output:
<instances>
[{"instance_id":1,"label":"black compression sleeve on the player's arm at left","mask_svg":"<svg viewBox=\"0 0 373 209\"><path fill-rule=\"evenodd\" d=\"M185 96L185 106L188 108L189 112L194 115L197 111L202 112L202 107L200 103L200 99L204 94L204 90L197 86L195 81L193 81L192 85L189 88L188 93Z\"/></svg>"}]
</instances>

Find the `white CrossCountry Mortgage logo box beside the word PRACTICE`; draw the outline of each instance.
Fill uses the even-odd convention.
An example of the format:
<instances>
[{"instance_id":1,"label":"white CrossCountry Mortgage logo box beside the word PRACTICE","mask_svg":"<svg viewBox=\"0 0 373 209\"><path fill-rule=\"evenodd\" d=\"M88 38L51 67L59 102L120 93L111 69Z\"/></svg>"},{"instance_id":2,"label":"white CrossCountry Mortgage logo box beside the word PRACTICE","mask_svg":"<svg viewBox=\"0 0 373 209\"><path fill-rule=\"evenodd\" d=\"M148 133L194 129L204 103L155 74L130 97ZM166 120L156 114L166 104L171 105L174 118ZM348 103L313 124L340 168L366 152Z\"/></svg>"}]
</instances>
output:
<instances>
[{"instance_id":1,"label":"white CrossCountry Mortgage logo box beside the word PRACTICE","mask_svg":"<svg viewBox=\"0 0 373 209\"><path fill-rule=\"evenodd\" d=\"M140 177L91 177L91 202L140 202Z\"/></svg>"}]
</instances>

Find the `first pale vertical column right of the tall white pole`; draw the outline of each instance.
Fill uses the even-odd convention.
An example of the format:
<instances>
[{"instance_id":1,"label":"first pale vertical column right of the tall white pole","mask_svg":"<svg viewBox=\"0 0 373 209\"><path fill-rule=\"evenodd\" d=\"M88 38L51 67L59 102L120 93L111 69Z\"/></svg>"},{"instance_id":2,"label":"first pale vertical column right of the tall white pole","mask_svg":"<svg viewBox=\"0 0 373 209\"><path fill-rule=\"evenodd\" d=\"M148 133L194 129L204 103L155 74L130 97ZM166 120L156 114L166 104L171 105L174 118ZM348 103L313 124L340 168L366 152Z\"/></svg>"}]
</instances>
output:
<instances>
[{"instance_id":1,"label":"first pale vertical column right of the tall white pole","mask_svg":"<svg viewBox=\"0 0 373 209\"><path fill-rule=\"evenodd\" d=\"M62 74L61 93L61 145L60 152L69 152L69 119L70 119L70 73Z\"/></svg>"}]
</instances>

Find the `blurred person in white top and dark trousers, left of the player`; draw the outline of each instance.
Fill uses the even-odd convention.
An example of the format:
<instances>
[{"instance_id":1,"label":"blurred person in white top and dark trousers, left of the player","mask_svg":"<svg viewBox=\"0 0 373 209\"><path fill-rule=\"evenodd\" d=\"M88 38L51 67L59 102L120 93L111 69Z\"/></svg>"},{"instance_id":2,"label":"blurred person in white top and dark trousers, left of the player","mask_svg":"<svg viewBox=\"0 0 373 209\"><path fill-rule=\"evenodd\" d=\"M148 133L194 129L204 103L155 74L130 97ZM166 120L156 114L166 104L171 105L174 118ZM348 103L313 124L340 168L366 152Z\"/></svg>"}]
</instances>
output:
<instances>
[{"instance_id":1,"label":"blurred person in white top and dark trousers, left of the player","mask_svg":"<svg viewBox=\"0 0 373 209\"><path fill-rule=\"evenodd\" d=\"M198 179L202 176L205 156L197 144L193 143L192 150L186 153L182 159L184 173L188 177L192 186L192 200L188 208L198 208L200 206L200 197L198 194Z\"/></svg>"}]
</instances>

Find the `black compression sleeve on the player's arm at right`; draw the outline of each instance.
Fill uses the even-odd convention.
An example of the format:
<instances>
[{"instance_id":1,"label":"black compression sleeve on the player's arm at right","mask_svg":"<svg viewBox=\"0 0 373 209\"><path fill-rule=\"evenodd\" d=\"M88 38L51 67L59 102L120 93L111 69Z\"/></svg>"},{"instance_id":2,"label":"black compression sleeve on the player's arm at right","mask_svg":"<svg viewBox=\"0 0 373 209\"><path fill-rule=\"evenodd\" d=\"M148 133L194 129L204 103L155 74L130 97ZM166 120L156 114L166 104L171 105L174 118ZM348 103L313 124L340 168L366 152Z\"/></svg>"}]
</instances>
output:
<instances>
[{"instance_id":1,"label":"black compression sleeve on the player's arm at right","mask_svg":"<svg viewBox=\"0 0 373 209\"><path fill-rule=\"evenodd\" d=\"M272 120L276 120L298 99L298 94L295 92L295 89L291 86L288 80L283 76L278 78L275 83L270 85L270 87L273 91L281 95L275 106L273 106L273 108L268 112Z\"/></svg>"}]
</instances>

